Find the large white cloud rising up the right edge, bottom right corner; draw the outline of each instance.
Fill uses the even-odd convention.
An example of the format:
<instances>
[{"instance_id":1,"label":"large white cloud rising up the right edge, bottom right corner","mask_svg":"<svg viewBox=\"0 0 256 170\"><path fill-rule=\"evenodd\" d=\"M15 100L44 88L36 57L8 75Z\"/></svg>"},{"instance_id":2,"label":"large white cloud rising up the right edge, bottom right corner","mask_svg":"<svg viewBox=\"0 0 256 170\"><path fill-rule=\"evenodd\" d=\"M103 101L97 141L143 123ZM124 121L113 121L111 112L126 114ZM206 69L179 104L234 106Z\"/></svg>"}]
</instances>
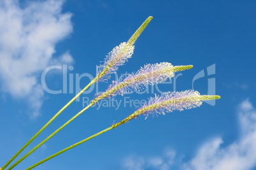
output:
<instances>
[{"instance_id":1,"label":"large white cloud rising up the right edge, bottom right corner","mask_svg":"<svg viewBox=\"0 0 256 170\"><path fill-rule=\"evenodd\" d=\"M256 109L250 101L238 108L241 136L227 147L221 138L210 140L199 148L194 159L184 165L186 170L247 170L256 166Z\"/></svg>"}]
</instances>

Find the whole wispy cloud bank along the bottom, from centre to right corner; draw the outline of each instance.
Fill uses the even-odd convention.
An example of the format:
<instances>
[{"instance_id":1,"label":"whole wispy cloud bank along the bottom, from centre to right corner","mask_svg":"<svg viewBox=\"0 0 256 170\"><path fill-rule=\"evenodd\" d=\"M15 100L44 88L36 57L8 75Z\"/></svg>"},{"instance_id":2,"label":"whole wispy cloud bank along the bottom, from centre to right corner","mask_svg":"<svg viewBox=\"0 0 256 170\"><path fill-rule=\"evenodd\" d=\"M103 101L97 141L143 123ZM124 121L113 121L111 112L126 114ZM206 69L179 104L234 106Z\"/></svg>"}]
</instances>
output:
<instances>
[{"instance_id":1,"label":"whole wispy cloud bank along the bottom, from centre to right corner","mask_svg":"<svg viewBox=\"0 0 256 170\"><path fill-rule=\"evenodd\" d=\"M222 147L221 137L206 141L196 155L184 161L170 150L155 157L127 157L122 168L125 170L183 169L183 170L250 170L256 166L256 108L249 100L238 106L240 136L230 145ZM169 153L169 154L168 154ZM168 156L169 155L169 156ZM174 166L175 165L175 166Z\"/></svg>"}]
</instances>

